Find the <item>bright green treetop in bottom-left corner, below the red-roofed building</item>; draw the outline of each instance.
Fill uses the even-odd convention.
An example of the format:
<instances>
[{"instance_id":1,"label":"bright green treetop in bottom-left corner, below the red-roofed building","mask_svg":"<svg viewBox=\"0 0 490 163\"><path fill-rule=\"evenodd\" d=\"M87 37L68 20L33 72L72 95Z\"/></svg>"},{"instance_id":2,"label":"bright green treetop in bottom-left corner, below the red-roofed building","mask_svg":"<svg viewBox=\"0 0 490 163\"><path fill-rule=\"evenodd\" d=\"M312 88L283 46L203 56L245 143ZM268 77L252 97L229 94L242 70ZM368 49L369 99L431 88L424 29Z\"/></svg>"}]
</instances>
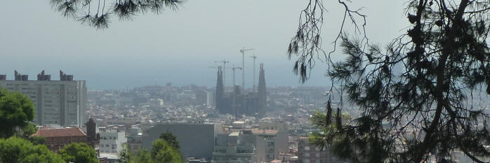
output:
<instances>
[{"instance_id":1,"label":"bright green treetop in bottom-left corner, below the red-roofed building","mask_svg":"<svg viewBox=\"0 0 490 163\"><path fill-rule=\"evenodd\" d=\"M12 136L8 139L0 139L0 162L64 163L65 160L44 145L33 145L25 139Z\"/></svg>"}]
</instances>

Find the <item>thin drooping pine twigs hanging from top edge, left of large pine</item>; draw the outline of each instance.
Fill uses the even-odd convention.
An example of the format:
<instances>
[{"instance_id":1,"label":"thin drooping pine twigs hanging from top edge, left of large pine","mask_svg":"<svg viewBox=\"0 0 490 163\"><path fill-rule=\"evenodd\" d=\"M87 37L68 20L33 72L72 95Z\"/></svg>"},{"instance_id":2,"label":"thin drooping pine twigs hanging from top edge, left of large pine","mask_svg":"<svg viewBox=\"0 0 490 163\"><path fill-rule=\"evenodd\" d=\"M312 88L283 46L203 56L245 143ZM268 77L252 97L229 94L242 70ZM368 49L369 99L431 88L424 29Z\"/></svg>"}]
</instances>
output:
<instances>
[{"instance_id":1,"label":"thin drooping pine twigs hanging from top edge, left of large pine","mask_svg":"<svg viewBox=\"0 0 490 163\"><path fill-rule=\"evenodd\" d=\"M363 41L367 43L368 38L366 36L366 15L360 12L361 8L352 9L347 2L340 1L338 4L344 8L344 15L340 29L333 43L333 50L326 53L322 48L322 27L324 24L324 13L326 8L322 0L309 0L304 10L301 10L299 17L298 29L296 34L291 38L288 47L288 58L296 56L296 62L293 67L293 72L300 75L300 80L305 81L310 78L310 71L313 69L315 59L319 59L322 62L331 64L330 55L336 51L337 43L340 36L343 34L346 27L346 21L353 24L357 34L363 36ZM358 21L361 20L362 24Z\"/></svg>"}]
</instances>

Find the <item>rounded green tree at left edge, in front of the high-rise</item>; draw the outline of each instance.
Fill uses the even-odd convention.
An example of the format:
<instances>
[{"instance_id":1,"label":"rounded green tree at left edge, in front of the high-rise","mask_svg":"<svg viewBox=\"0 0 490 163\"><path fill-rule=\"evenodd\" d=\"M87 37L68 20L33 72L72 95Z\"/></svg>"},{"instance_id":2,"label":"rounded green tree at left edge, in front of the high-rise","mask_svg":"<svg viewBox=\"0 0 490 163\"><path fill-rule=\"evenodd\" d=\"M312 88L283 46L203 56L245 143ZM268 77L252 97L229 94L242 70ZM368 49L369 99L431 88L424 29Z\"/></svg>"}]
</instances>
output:
<instances>
[{"instance_id":1,"label":"rounded green tree at left edge, in front of the high-rise","mask_svg":"<svg viewBox=\"0 0 490 163\"><path fill-rule=\"evenodd\" d=\"M34 134L35 125L29 123L32 119L34 104L27 96L0 88L0 138Z\"/></svg>"}]
</instances>

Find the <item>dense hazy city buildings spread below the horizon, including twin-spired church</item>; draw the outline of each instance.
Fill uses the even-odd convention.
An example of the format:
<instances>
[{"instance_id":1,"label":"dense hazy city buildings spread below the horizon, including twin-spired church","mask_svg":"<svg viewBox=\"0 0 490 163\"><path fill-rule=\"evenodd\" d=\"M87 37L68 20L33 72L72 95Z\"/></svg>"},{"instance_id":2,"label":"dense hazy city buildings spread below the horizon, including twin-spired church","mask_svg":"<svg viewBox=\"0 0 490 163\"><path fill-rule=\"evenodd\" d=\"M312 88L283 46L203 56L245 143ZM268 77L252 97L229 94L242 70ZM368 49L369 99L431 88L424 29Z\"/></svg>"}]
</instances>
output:
<instances>
[{"instance_id":1,"label":"dense hazy city buildings spread below the horizon, including twin-spired church","mask_svg":"<svg viewBox=\"0 0 490 163\"><path fill-rule=\"evenodd\" d=\"M262 65L257 88L223 85L222 70L217 74L217 87L166 83L87 90L85 80L62 71L60 80L51 80L44 71L37 80L29 80L15 71L14 80L0 76L0 87L22 92L34 102L34 136L46 137L50 150L72 142L90 143L100 162L119 162L121 150L150 150L164 132L176 136L186 162L336 160L328 150L307 142L307 134L316 130L311 115L324 111L324 87L266 88ZM216 95L219 91L223 97Z\"/></svg>"}]
</instances>

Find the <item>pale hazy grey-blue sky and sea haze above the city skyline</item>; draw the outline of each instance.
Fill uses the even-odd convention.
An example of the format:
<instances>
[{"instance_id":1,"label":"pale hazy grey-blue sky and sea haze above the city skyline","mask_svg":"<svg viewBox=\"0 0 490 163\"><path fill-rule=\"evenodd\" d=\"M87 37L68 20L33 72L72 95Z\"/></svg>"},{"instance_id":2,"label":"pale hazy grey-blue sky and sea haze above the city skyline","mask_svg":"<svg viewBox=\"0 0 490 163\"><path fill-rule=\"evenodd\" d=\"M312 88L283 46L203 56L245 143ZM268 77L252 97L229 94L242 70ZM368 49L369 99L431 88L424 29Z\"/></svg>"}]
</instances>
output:
<instances>
[{"instance_id":1,"label":"pale hazy grey-blue sky and sea haze above the city skyline","mask_svg":"<svg viewBox=\"0 0 490 163\"><path fill-rule=\"evenodd\" d=\"M58 80L58 70L86 80L89 89L115 89L171 82L174 85L216 85L215 60L241 66L239 49L255 48L265 64L267 86L299 86L287 45L296 32L300 0L188 0L178 11L139 15L109 29L81 26L62 17L48 0L8 0L0 6L0 74L13 79L14 69L35 80L46 70ZM403 1L353 1L364 6L371 43L385 45L408 27ZM325 1L329 10L323 31L325 50L331 50L343 6ZM338 56L341 56L340 53ZM246 57L246 84L251 86L252 59ZM257 66L258 67L258 66ZM237 84L241 72L236 73ZM258 76L258 73L257 73ZM232 83L227 71L227 84ZM327 85L318 63L305 85Z\"/></svg>"}]
</instances>

